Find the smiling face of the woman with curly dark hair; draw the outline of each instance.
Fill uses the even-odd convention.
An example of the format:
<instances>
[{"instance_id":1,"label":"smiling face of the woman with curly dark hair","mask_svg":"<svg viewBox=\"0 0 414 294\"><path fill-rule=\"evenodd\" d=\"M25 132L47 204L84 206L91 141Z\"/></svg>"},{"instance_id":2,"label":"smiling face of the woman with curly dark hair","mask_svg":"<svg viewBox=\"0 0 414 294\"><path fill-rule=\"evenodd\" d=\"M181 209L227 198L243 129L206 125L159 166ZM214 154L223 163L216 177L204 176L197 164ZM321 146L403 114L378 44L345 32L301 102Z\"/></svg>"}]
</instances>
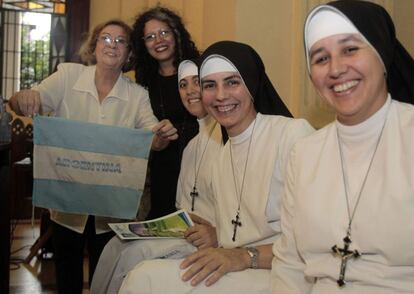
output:
<instances>
[{"instance_id":1,"label":"smiling face of the woman with curly dark hair","mask_svg":"<svg viewBox=\"0 0 414 294\"><path fill-rule=\"evenodd\" d=\"M145 23L144 43L151 55L158 62L173 62L175 37L171 28L162 21L151 19Z\"/></svg>"}]
</instances>

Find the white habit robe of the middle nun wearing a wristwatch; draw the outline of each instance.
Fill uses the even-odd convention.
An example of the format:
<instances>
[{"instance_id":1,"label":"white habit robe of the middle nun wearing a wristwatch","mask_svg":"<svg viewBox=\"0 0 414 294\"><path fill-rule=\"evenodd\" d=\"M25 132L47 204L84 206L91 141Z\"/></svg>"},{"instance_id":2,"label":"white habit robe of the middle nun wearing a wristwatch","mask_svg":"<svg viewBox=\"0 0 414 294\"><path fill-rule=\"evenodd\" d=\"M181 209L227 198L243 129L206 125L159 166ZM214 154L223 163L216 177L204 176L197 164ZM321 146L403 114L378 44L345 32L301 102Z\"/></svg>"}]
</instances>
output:
<instances>
[{"instance_id":1,"label":"white habit robe of the middle nun wearing a wristwatch","mask_svg":"<svg viewBox=\"0 0 414 294\"><path fill-rule=\"evenodd\" d=\"M232 241L232 219L236 216L250 135L253 131L241 198L240 221L236 241ZM292 145L313 131L305 120L257 114L256 122L240 135L229 138L213 167L213 194L216 201L216 225L219 244L226 248L271 244L280 233L279 199L283 191L285 166ZM239 189L239 188L238 188ZM240 191L240 190L238 190ZM268 293L270 270L247 269L223 276L206 287L183 282L179 269L182 260L150 260L138 264L126 277L120 293Z\"/></svg>"}]
</instances>

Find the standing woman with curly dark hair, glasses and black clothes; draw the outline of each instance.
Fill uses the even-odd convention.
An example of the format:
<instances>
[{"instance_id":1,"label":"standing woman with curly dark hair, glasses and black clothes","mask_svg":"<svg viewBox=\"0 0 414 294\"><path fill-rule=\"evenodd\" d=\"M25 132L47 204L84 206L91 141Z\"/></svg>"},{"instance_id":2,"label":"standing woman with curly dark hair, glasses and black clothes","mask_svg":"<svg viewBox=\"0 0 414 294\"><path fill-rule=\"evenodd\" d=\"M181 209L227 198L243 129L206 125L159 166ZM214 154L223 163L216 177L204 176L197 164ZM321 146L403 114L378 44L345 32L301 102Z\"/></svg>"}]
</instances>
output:
<instances>
[{"instance_id":1,"label":"standing woman with curly dark hair, glasses and black clothes","mask_svg":"<svg viewBox=\"0 0 414 294\"><path fill-rule=\"evenodd\" d=\"M168 118L179 135L166 149L151 154L148 218L155 218L175 211L182 151L198 131L196 118L181 103L177 68L183 59L196 58L199 53L181 17L160 6L137 17L133 25L132 51L136 57L136 81L148 89L155 116L159 120Z\"/></svg>"}]
</instances>

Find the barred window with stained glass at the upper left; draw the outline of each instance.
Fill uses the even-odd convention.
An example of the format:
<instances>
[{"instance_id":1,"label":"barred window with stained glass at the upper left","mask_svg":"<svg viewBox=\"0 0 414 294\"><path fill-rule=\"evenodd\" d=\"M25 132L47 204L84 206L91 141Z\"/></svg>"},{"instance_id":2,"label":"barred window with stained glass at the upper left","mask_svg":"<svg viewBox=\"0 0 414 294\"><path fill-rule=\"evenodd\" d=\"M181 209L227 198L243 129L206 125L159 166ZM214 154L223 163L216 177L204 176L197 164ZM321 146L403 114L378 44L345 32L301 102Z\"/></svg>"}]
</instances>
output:
<instances>
[{"instance_id":1,"label":"barred window with stained glass at the upper left","mask_svg":"<svg viewBox=\"0 0 414 294\"><path fill-rule=\"evenodd\" d=\"M0 12L0 95L8 99L66 60L66 3L0 0Z\"/></svg>"}]
</instances>

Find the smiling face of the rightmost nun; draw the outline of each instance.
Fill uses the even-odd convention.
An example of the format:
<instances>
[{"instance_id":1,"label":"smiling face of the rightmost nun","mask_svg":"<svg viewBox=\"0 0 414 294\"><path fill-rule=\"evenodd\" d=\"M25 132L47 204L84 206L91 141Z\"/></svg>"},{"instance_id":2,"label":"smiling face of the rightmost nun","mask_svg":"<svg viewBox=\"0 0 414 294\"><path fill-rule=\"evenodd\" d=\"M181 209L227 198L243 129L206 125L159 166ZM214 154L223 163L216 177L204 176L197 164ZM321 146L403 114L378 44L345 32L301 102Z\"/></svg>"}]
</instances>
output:
<instances>
[{"instance_id":1,"label":"smiling face of the rightmost nun","mask_svg":"<svg viewBox=\"0 0 414 294\"><path fill-rule=\"evenodd\" d=\"M385 103L384 66L359 34L321 39L312 46L309 56L312 82L341 123L361 123Z\"/></svg>"}]
</instances>

